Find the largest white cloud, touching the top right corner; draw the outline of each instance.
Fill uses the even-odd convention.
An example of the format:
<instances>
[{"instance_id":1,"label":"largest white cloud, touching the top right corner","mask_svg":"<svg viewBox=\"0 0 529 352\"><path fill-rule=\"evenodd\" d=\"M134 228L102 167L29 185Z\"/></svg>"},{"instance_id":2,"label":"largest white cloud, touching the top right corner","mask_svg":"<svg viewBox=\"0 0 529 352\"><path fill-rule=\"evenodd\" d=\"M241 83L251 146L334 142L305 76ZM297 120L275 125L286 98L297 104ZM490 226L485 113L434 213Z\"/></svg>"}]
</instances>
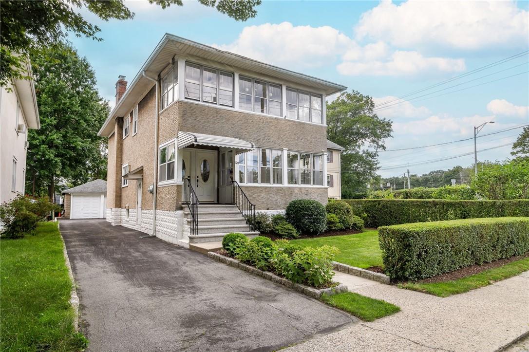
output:
<instances>
[{"instance_id":1,"label":"largest white cloud, touching the top right corner","mask_svg":"<svg viewBox=\"0 0 529 352\"><path fill-rule=\"evenodd\" d=\"M399 48L527 47L529 12L514 1L382 1L362 14L356 38L385 40Z\"/></svg>"}]
</instances>

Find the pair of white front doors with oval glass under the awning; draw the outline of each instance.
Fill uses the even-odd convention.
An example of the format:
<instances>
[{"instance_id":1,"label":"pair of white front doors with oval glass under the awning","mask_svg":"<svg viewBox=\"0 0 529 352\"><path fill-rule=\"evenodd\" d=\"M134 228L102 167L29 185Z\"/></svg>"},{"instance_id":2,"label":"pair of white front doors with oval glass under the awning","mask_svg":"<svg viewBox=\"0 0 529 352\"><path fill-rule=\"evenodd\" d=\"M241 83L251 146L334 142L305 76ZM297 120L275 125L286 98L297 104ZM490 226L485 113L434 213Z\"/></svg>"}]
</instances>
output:
<instances>
[{"instance_id":1,"label":"pair of white front doors with oval glass under the awning","mask_svg":"<svg viewBox=\"0 0 529 352\"><path fill-rule=\"evenodd\" d=\"M217 151L184 148L182 179L189 179L200 202L216 202Z\"/></svg>"}]
</instances>

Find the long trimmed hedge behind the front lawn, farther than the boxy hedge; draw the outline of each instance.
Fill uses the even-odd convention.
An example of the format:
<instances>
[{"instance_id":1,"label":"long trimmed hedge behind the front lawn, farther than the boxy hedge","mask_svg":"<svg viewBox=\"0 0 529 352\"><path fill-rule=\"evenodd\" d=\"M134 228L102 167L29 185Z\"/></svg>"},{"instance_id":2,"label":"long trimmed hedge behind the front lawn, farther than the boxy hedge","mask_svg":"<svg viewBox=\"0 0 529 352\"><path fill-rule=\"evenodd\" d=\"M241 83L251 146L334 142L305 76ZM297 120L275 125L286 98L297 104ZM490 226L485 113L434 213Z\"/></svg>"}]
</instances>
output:
<instances>
[{"instance_id":1,"label":"long trimmed hedge behind the front lawn, farther than the boxy hedge","mask_svg":"<svg viewBox=\"0 0 529 352\"><path fill-rule=\"evenodd\" d=\"M529 199L448 200L448 199L348 199L353 214L367 227L424 221L443 221L503 216L529 216Z\"/></svg>"}]
</instances>

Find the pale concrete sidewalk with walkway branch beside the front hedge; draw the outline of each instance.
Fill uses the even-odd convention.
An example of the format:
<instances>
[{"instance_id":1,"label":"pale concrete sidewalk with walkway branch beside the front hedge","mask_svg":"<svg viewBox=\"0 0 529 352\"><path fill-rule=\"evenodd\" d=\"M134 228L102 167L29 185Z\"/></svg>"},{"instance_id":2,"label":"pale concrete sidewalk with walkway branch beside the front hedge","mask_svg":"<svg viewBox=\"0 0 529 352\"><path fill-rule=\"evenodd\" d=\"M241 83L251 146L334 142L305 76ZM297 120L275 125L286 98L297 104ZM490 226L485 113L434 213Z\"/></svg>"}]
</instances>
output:
<instances>
[{"instance_id":1,"label":"pale concrete sidewalk with walkway branch beside the front hedge","mask_svg":"<svg viewBox=\"0 0 529 352\"><path fill-rule=\"evenodd\" d=\"M288 351L496 351L529 331L529 271L448 298L343 273L336 273L335 280L402 311Z\"/></svg>"}]
</instances>

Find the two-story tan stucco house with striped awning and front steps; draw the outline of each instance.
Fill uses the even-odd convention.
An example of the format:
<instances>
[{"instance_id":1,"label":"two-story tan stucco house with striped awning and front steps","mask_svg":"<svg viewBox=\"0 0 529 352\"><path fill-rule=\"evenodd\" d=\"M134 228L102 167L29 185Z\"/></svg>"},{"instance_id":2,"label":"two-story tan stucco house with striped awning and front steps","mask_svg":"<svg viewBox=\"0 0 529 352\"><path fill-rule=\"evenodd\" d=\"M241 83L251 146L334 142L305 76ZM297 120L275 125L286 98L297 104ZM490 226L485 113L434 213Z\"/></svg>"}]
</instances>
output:
<instances>
[{"instance_id":1,"label":"two-story tan stucco house with striped awning and front steps","mask_svg":"<svg viewBox=\"0 0 529 352\"><path fill-rule=\"evenodd\" d=\"M116 83L107 220L188 246L327 201L325 96L346 87L166 34Z\"/></svg>"}]
</instances>

